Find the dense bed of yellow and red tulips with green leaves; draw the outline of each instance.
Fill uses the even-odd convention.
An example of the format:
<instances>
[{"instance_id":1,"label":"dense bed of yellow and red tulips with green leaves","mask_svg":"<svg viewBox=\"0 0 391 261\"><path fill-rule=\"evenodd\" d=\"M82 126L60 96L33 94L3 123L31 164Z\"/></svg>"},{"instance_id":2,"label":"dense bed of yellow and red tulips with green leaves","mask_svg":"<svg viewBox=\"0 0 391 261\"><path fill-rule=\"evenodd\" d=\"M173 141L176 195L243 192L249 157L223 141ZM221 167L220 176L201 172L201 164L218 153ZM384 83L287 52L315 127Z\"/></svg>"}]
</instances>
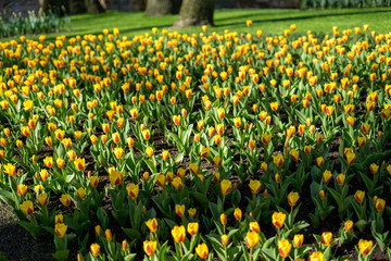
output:
<instances>
[{"instance_id":1,"label":"dense bed of yellow and red tulips with green leaves","mask_svg":"<svg viewBox=\"0 0 391 261\"><path fill-rule=\"evenodd\" d=\"M391 252L391 34L247 24L0 42L0 199L53 258Z\"/></svg>"}]
</instances>

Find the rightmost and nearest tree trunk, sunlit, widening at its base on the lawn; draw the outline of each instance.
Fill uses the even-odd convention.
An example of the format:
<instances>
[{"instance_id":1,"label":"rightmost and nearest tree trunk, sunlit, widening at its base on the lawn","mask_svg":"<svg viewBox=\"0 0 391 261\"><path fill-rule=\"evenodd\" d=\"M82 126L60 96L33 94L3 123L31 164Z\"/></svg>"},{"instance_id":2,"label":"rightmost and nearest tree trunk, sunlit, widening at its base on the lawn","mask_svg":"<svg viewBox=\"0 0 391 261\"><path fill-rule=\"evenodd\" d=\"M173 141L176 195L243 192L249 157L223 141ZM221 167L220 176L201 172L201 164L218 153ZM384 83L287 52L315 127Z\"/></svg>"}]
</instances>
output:
<instances>
[{"instance_id":1,"label":"rightmost and nearest tree trunk, sunlit, widening at its base on the lawn","mask_svg":"<svg viewBox=\"0 0 391 261\"><path fill-rule=\"evenodd\" d=\"M194 25L213 25L215 0L184 0L179 18L174 28L186 28Z\"/></svg>"}]
</instances>

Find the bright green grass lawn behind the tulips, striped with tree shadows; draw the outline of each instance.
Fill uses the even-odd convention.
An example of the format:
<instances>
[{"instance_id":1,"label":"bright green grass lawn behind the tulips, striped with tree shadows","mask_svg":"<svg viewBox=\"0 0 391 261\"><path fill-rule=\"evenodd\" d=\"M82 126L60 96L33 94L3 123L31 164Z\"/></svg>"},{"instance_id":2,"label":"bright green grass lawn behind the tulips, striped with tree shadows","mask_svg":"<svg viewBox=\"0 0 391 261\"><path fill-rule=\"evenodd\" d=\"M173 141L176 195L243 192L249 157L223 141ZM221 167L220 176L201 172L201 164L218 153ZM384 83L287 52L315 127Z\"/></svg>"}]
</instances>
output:
<instances>
[{"instance_id":1,"label":"bright green grass lawn behind the tulips, striped with tree shadows","mask_svg":"<svg viewBox=\"0 0 391 261\"><path fill-rule=\"evenodd\" d=\"M175 23L177 15L160 17L147 16L144 13L106 12L102 14L80 14L71 16L70 27L61 32L66 36L85 34L101 34L103 28L118 27L122 35L135 36L151 32L154 26L167 28ZM217 33L225 29L237 32L255 32L262 29L265 35L281 34L289 28L290 24L297 24L298 33L330 33L331 27L337 25L342 29L362 27L369 24L369 30L381 33L391 32L391 8L371 9L335 9L335 10L215 10L215 27L210 28ZM245 21L252 20L253 26L248 28ZM200 27L181 29L180 33L200 32ZM59 34L49 34L47 39L53 39ZM37 38L37 36L31 36ZM0 39L0 40L5 40Z\"/></svg>"}]
</instances>

